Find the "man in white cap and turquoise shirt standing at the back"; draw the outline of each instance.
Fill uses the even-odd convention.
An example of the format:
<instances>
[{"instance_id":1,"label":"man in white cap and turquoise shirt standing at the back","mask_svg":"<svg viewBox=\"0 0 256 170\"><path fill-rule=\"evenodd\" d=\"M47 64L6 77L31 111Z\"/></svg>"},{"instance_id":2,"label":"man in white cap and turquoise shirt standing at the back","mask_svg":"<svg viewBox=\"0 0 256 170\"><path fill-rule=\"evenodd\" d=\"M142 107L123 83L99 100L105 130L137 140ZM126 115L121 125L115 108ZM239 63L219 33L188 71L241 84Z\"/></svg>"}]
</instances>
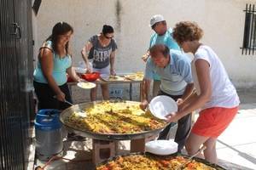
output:
<instances>
[{"instance_id":1,"label":"man in white cap and turquoise shirt standing at the back","mask_svg":"<svg viewBox=\"0 0 256 170\"><path fill-rule=\"evenodd\" d=\"M154 34L150 38L149 48L154 46L154 44L164 44L169 49L180 50L177 42L172 38L172 28L167 30L166 20L161 14L155 14L150 19L149 26L154 30ZM146 62L149 53L143 55L143 60ZM154 73L153 74L153 97L156 96L160 89L160 77ZM150 87L151 80L146 81L147 85Z\"/></svg>"}]
</instances>

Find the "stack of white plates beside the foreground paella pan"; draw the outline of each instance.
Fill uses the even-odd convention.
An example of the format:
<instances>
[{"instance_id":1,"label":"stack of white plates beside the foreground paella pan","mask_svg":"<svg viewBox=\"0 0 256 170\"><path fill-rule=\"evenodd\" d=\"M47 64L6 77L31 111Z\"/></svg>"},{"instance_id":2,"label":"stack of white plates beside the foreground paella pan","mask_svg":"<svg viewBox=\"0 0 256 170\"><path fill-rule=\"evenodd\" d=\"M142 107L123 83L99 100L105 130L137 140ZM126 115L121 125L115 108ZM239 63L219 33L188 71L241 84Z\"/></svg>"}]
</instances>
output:
<instances>
[{"instance_id":1,"label":"stack of white plates beside the foreground paella pan","mask_svg":"<svg viewBox=\"0 0 256 170\"><path fill-rule=\"evenodd\" d=\"M170 140L153 140L145 144L145 150L155 155L167 156L177 152L177 143Z\"/></svg>"}]
</instances>

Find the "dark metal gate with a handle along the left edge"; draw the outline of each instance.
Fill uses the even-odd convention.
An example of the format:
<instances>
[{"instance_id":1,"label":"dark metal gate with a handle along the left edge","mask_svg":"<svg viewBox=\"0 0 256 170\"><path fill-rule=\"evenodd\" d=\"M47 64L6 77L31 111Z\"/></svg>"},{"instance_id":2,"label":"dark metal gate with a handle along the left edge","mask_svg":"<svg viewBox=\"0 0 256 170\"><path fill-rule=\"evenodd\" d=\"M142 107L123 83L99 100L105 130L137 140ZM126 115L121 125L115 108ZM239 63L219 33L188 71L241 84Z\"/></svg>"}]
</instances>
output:
<instances>
[{"instance_id":1,"label":"dark metal gate with a handle along the left edge","mask_svg":"<svg viewBox=\"0 0 256 170\"><path fill-rule=\"evenodd\" d=\"M32 113L31 0L0 1L0 169L26 169Z\"/></svg>"}]
</instances>

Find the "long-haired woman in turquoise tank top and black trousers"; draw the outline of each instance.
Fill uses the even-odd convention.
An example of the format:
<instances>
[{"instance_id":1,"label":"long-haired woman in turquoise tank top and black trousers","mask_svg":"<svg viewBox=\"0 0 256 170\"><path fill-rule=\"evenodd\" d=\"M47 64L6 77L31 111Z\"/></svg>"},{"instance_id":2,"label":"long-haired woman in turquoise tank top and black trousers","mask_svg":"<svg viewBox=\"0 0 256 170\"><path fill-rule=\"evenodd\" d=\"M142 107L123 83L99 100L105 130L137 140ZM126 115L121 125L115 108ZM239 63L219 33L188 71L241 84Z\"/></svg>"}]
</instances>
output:
<instances>
[{"instance_id":1,"label":"long-haired woman in turquoise tank top and black trousers","mask_svg":"<svg viewBox=\"0 0 256 170\"><path fill-rule=\"evenodd\" d=\"M38 110L64 110L70 106L64 103L65 99L72 102L67 87L67 74L75 82L80 81L72 69L72 59L68 53L68 42L72 35L72 26L59 22L39 49L38 66L33 73Z\"/></svg>"}]
</instances>

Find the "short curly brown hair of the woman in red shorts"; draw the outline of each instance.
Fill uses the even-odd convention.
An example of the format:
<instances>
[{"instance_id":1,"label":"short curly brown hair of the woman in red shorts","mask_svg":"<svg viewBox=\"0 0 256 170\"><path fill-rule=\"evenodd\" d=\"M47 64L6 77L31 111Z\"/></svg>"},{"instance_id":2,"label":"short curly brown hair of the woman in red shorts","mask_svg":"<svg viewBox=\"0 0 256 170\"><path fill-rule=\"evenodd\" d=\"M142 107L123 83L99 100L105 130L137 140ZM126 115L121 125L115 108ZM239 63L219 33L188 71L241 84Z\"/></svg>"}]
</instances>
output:
<instances>
[{"instance_id":1,"label":"short curly brown hair of the woman in red shorts","mask_svg":"<svg viewBox=\"0 0 256 170\"><path fill-rule=\"evenodd\" d=\"M195 22L182 21L176 24L172 36L177 43L194 41L201 39L203 31Z\"/></svg>"}]
</instances>

